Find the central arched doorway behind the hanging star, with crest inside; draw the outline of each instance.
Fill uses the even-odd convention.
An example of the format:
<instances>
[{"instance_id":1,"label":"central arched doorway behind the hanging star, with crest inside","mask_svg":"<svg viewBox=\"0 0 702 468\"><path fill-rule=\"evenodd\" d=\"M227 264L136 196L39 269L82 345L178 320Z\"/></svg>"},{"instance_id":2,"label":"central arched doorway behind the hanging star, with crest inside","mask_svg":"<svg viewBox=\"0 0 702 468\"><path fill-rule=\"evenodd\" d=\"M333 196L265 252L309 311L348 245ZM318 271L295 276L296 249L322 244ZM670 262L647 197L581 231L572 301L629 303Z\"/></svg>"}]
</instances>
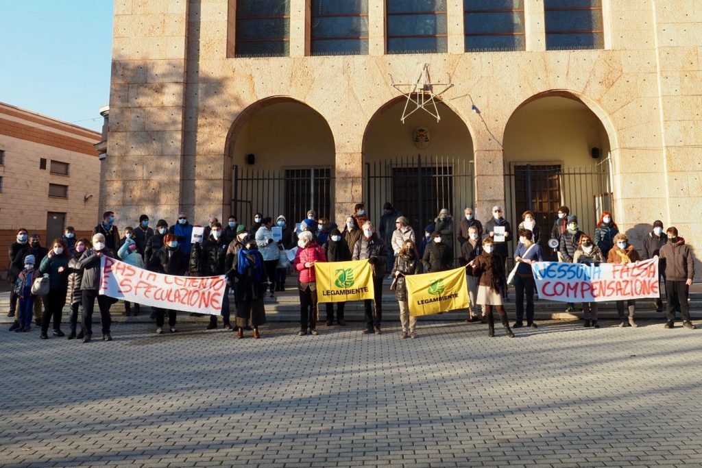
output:
<instances>
[{"instance_id":1,"label":"central arched doorway behind the hanging star, with crest inside","mask_svg":"<svg viewBox=\"0 0 702 468\"><path fill-rule=\"evenodd\" d=\"M364 199L373 222L390 201L420 237L442 208L458 222L474 205L473 142L465 121L444 102L437 102L438 122L418 109L402 123L405 103L403 96L391 100L366 126Z\"/></svg>"}]
</instances>

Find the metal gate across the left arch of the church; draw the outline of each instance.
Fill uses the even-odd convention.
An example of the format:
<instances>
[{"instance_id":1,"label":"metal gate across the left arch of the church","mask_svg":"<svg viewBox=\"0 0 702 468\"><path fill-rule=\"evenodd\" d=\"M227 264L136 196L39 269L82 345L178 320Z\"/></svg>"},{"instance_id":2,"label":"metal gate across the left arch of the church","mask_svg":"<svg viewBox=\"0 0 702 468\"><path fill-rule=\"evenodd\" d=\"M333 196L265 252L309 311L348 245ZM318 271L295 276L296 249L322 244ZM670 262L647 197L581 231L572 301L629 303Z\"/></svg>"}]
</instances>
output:
<instances>
[{"instance_id":1,"label":"metal gate across the left arch of the church","mask_svg":"<svg viewBox=\"0 0 702 468\"><path fill-rule=\"evenodd\" d=\"M275 219L284 215L289 226L313 209L318 218L333 219L334 178L331 167L275 170L234 166L232 213L246 225L257 211Z\"/></svg>"}]
</instances>

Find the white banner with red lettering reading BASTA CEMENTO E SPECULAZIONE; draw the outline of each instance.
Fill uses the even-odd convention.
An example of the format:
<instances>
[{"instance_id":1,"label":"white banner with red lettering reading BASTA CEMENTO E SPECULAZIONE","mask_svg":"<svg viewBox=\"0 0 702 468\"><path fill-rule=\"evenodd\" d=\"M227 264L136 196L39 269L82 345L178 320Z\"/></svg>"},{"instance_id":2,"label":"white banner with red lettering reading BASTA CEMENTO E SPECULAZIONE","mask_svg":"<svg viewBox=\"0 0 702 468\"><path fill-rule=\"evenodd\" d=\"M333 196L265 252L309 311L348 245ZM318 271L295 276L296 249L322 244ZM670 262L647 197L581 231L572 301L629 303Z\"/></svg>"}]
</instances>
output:
<instances>
[{"instance_id":1,"label":"white banner with red lettering reading BASTA CEMENTO E SPECULAZIONE","mask_svg":"<svg viewBox=\"0 0 702 468\"><path fill-rule=\"evenodd\" d=\"M100 294L142 305L221 315L226 276L171 276L102 257Z\"/></svg>"}]
</instances>

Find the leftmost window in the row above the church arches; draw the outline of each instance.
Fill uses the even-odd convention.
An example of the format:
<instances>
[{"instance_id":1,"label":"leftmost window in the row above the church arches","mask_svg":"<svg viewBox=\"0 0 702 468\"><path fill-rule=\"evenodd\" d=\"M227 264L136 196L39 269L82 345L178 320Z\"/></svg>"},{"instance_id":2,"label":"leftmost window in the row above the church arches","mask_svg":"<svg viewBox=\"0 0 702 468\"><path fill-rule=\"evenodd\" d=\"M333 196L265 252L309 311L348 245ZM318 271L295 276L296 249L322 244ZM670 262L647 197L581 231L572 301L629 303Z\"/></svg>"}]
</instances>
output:
<instances>
[{"instance_id":1,"label":"leftmost window in the row above the church arches","mask_svg":"<svg viewBox=\"0 0 702 468\"><path fill-rule=\"evenodd\" d=\"M290 0L237 0L235 57L290 55Z\"/></svg>"}]
</instances>

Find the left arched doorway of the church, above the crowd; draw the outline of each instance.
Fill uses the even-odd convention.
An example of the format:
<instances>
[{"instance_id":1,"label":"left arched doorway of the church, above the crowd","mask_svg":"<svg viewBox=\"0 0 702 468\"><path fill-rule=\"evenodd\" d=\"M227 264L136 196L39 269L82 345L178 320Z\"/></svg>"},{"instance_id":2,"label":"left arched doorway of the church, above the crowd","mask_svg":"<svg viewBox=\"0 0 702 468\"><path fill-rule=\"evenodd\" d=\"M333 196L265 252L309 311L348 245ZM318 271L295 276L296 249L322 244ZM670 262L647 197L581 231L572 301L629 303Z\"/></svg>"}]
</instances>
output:
<instances>
[{"instance_id":1,"label":"left arched doorway of the church, above the crowd","mask_svg":"<svg viewBox=\"0 0 702 468\"><path fill-rule=\"evenodd\" d=\"M287 97L256 102L232 125L227 149L239 222L259 211L293 226L310 209L333 219L334 140L312 107Z\"/></svg>"}]
</instances>

